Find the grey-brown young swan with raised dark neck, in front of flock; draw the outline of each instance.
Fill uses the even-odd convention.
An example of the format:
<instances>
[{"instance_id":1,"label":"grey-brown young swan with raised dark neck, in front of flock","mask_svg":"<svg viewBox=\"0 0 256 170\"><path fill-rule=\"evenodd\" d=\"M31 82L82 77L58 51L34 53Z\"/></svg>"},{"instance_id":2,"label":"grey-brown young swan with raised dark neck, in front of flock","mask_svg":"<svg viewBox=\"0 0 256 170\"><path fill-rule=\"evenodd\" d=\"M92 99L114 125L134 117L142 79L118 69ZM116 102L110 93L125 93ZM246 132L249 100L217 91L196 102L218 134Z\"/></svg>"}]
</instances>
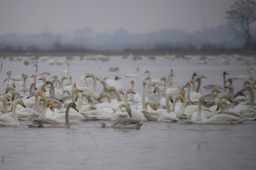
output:
<instances>
[{"instance_id":1,"label":"grey-brown young swan with raised dark neck, in front of flock","mask_svg":"<svg viewBox=\"0 0 256 170\"><path fill-rule=\"evenodd\" d=\"M77 112L78 110L76 109L76 104L71 102L68 104L68 107L66 109L66 113L65 113L65 124L59 123L59 122L49 122L50 124L46 123L40 123L38 124L28 124L29 127L34 127L34 128L59 128L59 127L70 127L70 122L69 122L69 109L73 108L75 109Z\"/></svg>"}]
</instances>

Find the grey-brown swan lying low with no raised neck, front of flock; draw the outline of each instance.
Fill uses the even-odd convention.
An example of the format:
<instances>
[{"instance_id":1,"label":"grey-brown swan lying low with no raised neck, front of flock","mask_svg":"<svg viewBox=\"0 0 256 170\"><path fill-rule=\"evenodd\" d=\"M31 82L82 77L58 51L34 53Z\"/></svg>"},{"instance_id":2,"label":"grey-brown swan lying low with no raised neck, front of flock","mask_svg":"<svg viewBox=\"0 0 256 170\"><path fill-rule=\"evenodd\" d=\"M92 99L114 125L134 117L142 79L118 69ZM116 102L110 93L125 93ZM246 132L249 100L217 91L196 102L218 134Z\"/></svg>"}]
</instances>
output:
<instances>
[{"instance_id":1,"label":"grey-brown swan lying low with no raised neck, front of flock","mask_svg":"<svg viewBox=\"0 0 256 170\"><path fill-rule=\"evenodd\" d=\"M141 126L142 124L138 120L126 117L116 120L113 124L109 124L108 122L101 124L102 128L113 127L120 129L140 129Z\"/></svg>"}]
</instances>

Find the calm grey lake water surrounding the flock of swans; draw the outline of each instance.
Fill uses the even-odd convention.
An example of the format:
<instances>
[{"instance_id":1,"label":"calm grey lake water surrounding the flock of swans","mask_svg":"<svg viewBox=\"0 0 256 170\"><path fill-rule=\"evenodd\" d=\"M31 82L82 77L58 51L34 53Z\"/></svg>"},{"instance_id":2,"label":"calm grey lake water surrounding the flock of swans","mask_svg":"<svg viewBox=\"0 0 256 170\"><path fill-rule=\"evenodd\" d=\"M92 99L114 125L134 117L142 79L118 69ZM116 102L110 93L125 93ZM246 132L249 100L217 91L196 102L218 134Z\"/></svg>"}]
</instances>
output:
<instances>
[{"instance_id":1,"label":"calm grey lake water surrounding the flock of swans","mask_svg":"<svg viewBox=\"0 0 256 170\"><path fill-rule=\"evenodd\" d=\"M55 59L55 58L53 58ZM60 57L56 59L63 59ZM51 79L54 74L59 77L65 65L49 65L50 59L38 61L38 72L50 72L46 76ZM12 70L12 76L22 72L28 76L35 73L32 64L25 66L24 59L10 61L1 59L3 69L0 78L0 90L6 86L6 71ZM197 65L198 57L191 60L164 57L156 60L132 60L131 58L113 57L108 62L101 60L80 60L76 57L70 62L70 74L73 81L80 81L80 76L87 72L114 78L130 88L131 78L128 73L135 73L140 67L140 77L135 80L135 92L142 93L142 80L146 69L151 71L153 79L167 76L172 68L177 87L190 80L193 72L204 74L203 85L219 83L222 85L222 73L230 73L227 77L245 74L245 61L230 59L224 65L219 57L209 60L207 65ZM119 67L119 72L108 72L108 69ZM251 65L255 68L255 65ZM255 76L255 72L252 73ZM38 76L40 78L40 76ZM38 79L37 78L37 79ZM33 79L29 79L32 83ZM40 81L39 81L40 82ZM67 81L68 82L68 81ZM243 87L242 80L234 80L235 92ZM91 85L92 87L92 85ZM17 85L16 89L22 89ZM98 83L98 92L102 86ZM202 93L210 90L202 89ZM223 93L224 90L220 89ZM22 92L23 93L23 92ZM23 93L24 94L24 93ZM24 95L28 95L26 92ZM156 102L154 94L146 93ZM93 101L96 103L95 101ZM254 114L255 116L255 114ZM19 127L0 128L0 169L254 169L254 141L256 140L254 121L232 125L183 125L178 123L143 122L140 130L100 128L102 121L80 121L70 128L30 129L26 126L30 121L20 121ZM198 148L200 145L200 150Z\"/></svg>"}]
</instances>

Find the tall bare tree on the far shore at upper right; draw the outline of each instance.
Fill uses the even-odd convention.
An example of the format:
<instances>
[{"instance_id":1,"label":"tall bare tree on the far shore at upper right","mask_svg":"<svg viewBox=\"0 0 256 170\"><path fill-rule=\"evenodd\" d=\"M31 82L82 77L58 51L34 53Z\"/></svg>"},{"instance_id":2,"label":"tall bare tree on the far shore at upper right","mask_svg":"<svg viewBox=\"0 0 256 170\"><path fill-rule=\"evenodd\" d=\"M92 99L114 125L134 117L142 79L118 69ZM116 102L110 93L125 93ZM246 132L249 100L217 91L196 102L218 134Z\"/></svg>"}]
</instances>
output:
<instances>
[{"instance_id":1,"label":"tall bare tree on the far shore at upper right","mask_svg":"<svg viewBox=\"0 0 256 170\"><path fill-rule=\"evenodd\" d=\"M230 6L226 11L232 31L243 32L246 37L246 45L251 44L250 25L256 21L256 1L239 0Z\"/></svg>"}]
</instances>

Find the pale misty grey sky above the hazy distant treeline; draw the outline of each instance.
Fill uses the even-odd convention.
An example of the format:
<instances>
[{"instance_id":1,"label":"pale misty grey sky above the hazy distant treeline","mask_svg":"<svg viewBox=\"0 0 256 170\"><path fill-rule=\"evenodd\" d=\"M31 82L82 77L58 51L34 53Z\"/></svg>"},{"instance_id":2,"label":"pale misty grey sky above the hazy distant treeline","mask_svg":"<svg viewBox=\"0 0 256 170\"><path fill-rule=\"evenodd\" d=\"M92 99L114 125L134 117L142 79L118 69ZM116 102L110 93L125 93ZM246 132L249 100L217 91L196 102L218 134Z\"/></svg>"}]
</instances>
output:
<instances>
[{"instance_id":1,"label":"pale misty grey sky above the hazy distant treeline","mask_svg":"<svg viewBox=\"0 0 256 170\"><path fill-rule=\"evenodd\" d=\"M160 29L202 30L226 24L235 0L0 0L0 32L69 33L88 27L93 33L129 33Z\"/></svg>"}]
</instances>

